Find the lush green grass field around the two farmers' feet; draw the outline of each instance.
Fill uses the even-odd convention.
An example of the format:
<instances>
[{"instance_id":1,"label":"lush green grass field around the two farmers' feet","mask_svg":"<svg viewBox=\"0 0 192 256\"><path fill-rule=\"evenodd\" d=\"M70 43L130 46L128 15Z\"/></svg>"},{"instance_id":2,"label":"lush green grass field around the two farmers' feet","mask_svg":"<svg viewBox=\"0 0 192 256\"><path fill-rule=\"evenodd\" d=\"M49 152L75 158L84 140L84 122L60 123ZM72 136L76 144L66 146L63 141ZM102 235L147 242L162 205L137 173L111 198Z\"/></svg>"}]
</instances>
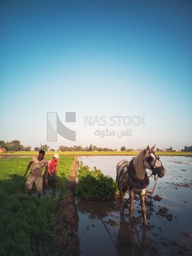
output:
<instances>
[{"instance_id":1,"label":"lush green grass field around the two farmers' feet","mask_svg":"<svg viewBox=\"0 0 192 256\"><path fill-rule=\"evenodd\" d=\"M54 219L61 194L57 199L26 195L23 174L30 159L0 160L0 255L3 256L50 255ZM67 193L66 185L73 161L72 156L60 157L58 184L63 194Z\"/></svg>"}]
</instances>

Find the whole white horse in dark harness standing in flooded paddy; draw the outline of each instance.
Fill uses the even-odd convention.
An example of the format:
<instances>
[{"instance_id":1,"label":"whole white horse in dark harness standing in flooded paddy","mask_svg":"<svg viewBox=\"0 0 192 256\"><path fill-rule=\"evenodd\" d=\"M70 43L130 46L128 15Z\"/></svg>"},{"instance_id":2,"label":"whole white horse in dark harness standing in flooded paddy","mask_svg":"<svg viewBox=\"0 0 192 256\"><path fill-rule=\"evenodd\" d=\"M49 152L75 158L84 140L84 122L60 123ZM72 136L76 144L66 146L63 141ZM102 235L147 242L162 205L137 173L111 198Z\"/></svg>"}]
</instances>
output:
<instances>
[{"instance_id":1,"label":"whole white horse in dark harness standing in flooded paddy","mask_svg":"<svg viewBox=\"0 0 192 256\"><path fill-rule=\"evenodd\" d=\"M143 221L147 225L147 216L145 209L145 188L149 184L146 169L152 170L152 174L160 178L164 176L165 170L155 154L155 145L152 148L147 146L138 156L134 157L130 162L122 160L116 165L116 182L120 191L120 212L124 212L124 196L129 190L130 197L130 221L132 221L132 213L134 211L134 195L138 194L141 201L141 209Z\"/></svg>"}]
</instances>

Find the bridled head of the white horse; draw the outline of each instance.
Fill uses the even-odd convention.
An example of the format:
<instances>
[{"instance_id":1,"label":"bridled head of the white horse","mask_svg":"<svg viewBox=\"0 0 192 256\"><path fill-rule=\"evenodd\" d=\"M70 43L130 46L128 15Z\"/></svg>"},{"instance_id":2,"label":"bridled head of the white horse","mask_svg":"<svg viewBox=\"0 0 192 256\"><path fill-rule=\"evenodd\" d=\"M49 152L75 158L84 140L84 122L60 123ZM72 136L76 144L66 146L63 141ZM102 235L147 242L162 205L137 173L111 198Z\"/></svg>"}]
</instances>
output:
<instances>
[{"instance_id":1,"label":"bridled head of the white horse","mask_svg":"<svg viewBox=\"0 0 192 256\"><path fill-rule=\"evenodd\" d=\"M155 145L152 148L147 146L147 148L144 150L144 154L145 168L152 170L153 175L157 174L159 178L162 178L166 171L164 170L163 164L159 160L159 156L155 154Z\"/></svg>"}]
</instances>

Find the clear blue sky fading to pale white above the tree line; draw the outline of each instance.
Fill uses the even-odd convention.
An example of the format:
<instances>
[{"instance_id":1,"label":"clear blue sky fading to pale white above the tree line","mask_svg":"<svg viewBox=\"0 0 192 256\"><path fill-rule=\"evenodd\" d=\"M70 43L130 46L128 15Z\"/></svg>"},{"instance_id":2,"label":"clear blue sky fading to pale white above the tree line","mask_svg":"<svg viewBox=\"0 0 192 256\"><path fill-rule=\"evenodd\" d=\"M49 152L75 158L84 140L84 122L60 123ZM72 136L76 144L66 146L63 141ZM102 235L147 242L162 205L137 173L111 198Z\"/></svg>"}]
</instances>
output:
<instances>
[{"instance_id":1,"label":"clear blue sky fading to pale white above the tree line","mask_svg":"<svg viewBox=\"0 0 192 256\"><path fill-rule=\"evenodd\" d=\"M192 145L192 1L1 0L0 12L0 140ZM47 141L48 112L76 141Z\"/></svg>"}]
</instances>

